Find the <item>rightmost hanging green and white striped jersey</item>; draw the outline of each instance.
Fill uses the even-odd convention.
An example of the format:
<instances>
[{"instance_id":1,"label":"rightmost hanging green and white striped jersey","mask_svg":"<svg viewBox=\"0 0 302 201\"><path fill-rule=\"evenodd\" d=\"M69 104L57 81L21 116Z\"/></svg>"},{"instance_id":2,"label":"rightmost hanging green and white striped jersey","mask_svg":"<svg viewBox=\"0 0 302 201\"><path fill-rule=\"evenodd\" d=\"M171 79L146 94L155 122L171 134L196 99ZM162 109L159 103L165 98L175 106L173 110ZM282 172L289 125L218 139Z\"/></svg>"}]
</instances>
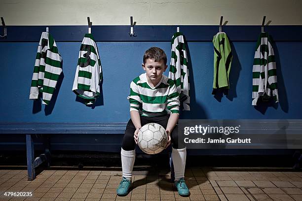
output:
<instances>
[{"instance_id":1,"label":"rightmost hanging green and white striped jersey","mask_svg":"<svg viewBox=\"0 0 302 201\"><path fill-rule=\"evenodd\" d=\"M257 105L259 98L268 100L271 96L279 102L277 89L277 71L272 39L267 32L260 34L253 65L252 105Z\"/></svg>"}]
</instances>

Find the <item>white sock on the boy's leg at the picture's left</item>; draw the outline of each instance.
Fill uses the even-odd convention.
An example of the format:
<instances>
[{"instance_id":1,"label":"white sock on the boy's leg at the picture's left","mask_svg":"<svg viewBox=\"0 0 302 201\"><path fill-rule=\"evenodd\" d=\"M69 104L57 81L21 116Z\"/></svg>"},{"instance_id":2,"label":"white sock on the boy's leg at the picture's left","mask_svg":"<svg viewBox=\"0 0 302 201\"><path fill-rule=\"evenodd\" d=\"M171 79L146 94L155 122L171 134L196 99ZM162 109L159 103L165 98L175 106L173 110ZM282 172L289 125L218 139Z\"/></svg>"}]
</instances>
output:
<instances>
[{"instance_id":1,"label":"white sock on the boy's leg at the picture's left","mask_svg":"<svg viewBox=\"0 0 302 201\"><path fill-rule=\"evenodd\" d=\"M123 177L132 180L132 170L135 161L135 150L125 151L122 148L120 151L120 156L122 160Z\"/></svg>"}]
</instances>

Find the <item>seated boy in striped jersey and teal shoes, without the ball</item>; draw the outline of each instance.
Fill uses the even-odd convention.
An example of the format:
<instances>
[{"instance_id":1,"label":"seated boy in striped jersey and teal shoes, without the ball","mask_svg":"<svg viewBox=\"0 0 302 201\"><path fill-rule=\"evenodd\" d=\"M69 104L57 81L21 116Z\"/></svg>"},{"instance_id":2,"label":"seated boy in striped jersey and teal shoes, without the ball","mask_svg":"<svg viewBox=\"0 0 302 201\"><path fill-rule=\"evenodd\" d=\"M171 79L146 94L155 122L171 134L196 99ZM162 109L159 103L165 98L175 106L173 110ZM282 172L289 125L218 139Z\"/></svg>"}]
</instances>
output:
<instances>
[{"instance_id":1,"label":"seated boy in striped jersey and teal shoes, without the ball","mask_svg":"<svg viewBox=\"0 0 302 201\"><path fill-rule=\"evenodd\" d=\"M178 144L177 121L179 118L179 93L174 82L163 75L167 69L167 56L158 47L148 49L142 67L146 73L136 77L130 84L130 116L121 148L122 180L116 189L118 196L125 196L131 185L135 161L137 134L142 126L157 123L166 129L169 146L172 140L172 158L175 170L175 186L179 195L189 196L184 180L186 147ZM168 110L169 111L168 111ZM170 114L171 113L171 114Z\"/></svg>"}]
</instances>

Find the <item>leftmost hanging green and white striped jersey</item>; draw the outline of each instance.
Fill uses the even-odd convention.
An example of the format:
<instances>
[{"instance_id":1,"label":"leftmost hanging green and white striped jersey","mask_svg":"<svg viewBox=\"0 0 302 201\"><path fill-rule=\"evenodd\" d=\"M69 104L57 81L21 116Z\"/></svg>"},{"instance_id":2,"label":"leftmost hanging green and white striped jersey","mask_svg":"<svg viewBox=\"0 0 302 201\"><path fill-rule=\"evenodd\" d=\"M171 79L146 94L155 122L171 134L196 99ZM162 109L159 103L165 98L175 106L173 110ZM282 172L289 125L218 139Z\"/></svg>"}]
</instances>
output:
<instances>
[{"instance_id":1,"label":"leftmost hanging green and white striped jersey","mask_svg":"<svg viewBox=\"0 0 302 201\"><path fill-rule=\"evenodd\" d=\"M50 33L43 32L38 45L30 99L38 99L40 92L42 103L49 104L61 72L62 57L56 42Z\"/></svg>"}]
</instances>

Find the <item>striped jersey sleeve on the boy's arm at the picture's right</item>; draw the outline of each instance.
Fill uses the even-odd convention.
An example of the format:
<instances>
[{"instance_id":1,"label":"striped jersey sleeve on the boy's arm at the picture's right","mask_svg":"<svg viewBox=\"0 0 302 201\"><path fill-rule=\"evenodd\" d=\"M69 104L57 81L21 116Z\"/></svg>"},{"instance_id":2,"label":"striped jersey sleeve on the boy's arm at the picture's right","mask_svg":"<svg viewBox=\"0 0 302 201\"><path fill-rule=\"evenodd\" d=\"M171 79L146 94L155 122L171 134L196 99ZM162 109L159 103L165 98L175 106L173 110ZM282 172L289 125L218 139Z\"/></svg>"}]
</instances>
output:
<instances>
[{"instance_id":1,"label":"striped jersey sleeve on the boy's arm at the picture's right","mask_svg":"<svg viewBox=\"0 0 302 201\"><path fill-rule=\"evenodd\" d=\"M179 114L179 93L177 92L176 85L171 80L170 88L169 88L169 94L168 94L168 100L167 100L167 108L171 111L171 113L178 113Z\"/></svg>"}]
</instances>

